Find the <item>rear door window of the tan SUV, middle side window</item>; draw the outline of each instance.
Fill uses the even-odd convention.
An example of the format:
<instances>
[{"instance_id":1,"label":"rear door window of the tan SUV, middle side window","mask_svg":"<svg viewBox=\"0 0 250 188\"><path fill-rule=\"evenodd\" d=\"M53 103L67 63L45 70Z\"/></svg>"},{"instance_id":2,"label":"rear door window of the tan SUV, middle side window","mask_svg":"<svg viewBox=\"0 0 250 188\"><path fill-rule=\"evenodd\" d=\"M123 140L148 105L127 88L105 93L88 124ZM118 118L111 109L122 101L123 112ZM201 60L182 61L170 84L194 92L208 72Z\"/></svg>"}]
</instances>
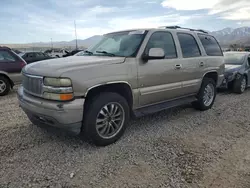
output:
<instances>
[{"instance_id":1,"label":"rear door window of the tan SUV, middle side window","mask_svg":"<svg viewBox=\"0 0 250 188\"><path fill-rule=\"evenodd\" d=\"M184 58L199 57L201 52L195 38L187 33L178 33L181 45L182 55Z\"/></svg>"}]
</instances>

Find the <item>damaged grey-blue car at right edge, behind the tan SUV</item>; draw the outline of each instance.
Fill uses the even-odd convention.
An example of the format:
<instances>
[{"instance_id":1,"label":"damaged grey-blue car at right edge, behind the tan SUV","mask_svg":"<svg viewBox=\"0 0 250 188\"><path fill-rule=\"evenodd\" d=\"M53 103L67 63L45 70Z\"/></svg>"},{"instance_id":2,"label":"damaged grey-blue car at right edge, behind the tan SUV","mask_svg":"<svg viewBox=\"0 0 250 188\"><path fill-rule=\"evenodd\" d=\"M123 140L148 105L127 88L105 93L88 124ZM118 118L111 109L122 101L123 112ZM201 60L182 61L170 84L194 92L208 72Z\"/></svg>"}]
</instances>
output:
<instances>
[{"instance_id":1,"label":"damaged grey-blue car at right edge, behind the tan SUV","mask_svg":"<svg viewBox=\"0 0 250 188\"><path fill-rule=\"evenodd\" d=\"M243 93L250 85L250 52L225 52L225 79L221 88Z\"/></svg>"}]
</instances>

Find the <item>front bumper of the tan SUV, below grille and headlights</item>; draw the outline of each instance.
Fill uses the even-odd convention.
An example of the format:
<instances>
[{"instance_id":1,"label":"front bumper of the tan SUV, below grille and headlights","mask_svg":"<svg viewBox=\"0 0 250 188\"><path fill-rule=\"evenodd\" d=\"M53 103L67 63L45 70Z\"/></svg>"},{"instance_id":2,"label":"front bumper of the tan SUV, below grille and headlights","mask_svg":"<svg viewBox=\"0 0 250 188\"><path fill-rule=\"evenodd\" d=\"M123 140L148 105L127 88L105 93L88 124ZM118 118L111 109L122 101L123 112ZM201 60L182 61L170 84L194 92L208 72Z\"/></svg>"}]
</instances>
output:
<instances>
[{"instance_id":1,"label":"front bumper of the tan SUV, below grille and headlights","mask_svg":"<svg viewBox=\"0 0 250 188\"><path fill-rule=\"evenodd\" d=\"M49 101L18 89L20 107L35 125L49 125L79 134L82 127L84 99L70 102Z\"/></svg>"}]
</instances>

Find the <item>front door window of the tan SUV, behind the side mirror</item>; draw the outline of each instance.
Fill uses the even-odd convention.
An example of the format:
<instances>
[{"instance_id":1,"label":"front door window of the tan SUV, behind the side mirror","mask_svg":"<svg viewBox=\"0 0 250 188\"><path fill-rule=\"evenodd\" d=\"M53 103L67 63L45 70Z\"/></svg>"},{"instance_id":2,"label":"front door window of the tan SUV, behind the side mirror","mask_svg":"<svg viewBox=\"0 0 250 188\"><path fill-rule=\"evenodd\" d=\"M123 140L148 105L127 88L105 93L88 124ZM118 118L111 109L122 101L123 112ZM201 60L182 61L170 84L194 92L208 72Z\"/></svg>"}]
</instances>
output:
<instances>
[{"instance_id":1,"label":"front door window of the tan SUV, behind the side mirror","mask_svg":"<svg viewBox=\"0 0 250 188\"><path fill-rule=\"evenodd\" d=\"M177 58L174 39L169 32L159 31L153 33L146 47L147 54L149 53L150 48L162 48L165 52L165 59Z\"/></svg>"}]
</instances>

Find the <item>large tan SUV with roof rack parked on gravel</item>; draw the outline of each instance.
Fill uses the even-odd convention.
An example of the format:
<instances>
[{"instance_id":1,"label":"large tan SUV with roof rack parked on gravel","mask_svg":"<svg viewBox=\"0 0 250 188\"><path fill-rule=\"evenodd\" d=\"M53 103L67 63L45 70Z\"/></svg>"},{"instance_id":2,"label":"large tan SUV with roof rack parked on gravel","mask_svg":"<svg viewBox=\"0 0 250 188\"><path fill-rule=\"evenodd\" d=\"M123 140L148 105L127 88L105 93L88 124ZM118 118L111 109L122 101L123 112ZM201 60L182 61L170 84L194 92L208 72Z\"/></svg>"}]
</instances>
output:
<instances>
[{"instance_id":1,"label":"large tan SUV with roof rack parked on gravel","mask_svg":"<svg viewBox=\"0 0 250 188\"><path fill-rule=\"evenodd\" d=\"M192 103L208 110L224 74L216 39L180 27L109 33L80 56L23 69L20 106L33 124L50 125L108 145L131 116Z\"/></svg>"}]
</instances>

